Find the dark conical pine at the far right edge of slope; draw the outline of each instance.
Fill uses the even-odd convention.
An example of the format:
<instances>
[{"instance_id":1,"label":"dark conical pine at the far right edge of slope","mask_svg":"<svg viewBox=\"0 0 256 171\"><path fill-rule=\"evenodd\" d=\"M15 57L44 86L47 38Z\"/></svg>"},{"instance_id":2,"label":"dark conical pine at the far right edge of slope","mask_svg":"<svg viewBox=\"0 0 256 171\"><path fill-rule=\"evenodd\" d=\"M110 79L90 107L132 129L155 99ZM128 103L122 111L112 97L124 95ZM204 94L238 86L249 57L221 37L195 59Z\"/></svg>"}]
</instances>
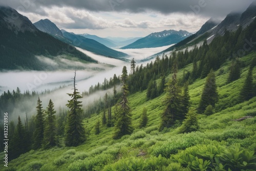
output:
<instances>
[{"instance_id":1,"label":"dark conical pine at the far right edge of slope","mask_svg":"<svg viewBox=\"0 0 256 171\"><path fill-rule=\"evenodd\" d=\"M249 100L253 97L254 89L253 89L253 78L252 78L252 70L253 67L250 65L249 71L247 73L243 88L240 92L240 99L242 101Z\"/></svg>"}]
</instances>

